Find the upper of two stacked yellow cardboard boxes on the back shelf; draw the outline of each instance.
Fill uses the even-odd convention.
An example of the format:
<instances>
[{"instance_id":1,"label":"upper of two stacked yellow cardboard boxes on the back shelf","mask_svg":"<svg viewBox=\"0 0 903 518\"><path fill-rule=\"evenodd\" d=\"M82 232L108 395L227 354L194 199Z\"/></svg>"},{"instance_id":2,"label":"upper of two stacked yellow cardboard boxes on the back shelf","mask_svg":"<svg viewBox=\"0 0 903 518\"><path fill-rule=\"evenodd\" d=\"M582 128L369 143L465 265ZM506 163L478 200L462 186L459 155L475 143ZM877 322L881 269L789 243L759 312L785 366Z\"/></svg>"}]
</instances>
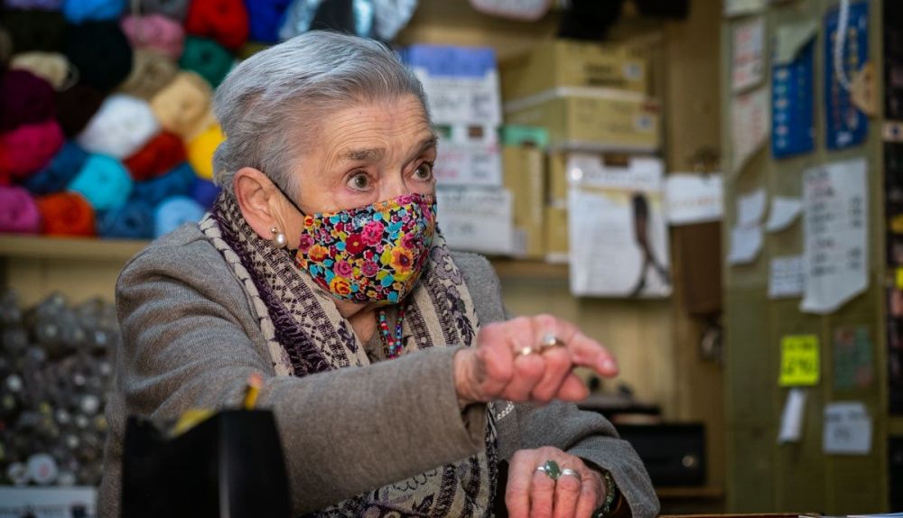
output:
<instances>
[{"instance_id":1,"label":"upper of two stacked yellow cardboard boxes on the back shelf","mask_svg":"<svg viewBox=\"0 0 903 518\"><path fill-rule=\"evenodd\" d=\"M502 98L513 101L561 87L614 88L645 95L647 75L647 60L628 45L553 40L501 63Z\"/></svg>"}]
</instances>

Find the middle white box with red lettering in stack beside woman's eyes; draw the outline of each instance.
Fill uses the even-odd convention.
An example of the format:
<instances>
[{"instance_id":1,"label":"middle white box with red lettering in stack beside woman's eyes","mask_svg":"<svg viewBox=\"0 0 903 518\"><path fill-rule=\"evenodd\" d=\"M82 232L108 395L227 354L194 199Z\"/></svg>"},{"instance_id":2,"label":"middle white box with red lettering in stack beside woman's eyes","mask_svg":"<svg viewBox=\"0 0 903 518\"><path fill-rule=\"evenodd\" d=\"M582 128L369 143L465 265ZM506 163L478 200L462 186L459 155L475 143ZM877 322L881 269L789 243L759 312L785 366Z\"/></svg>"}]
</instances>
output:
<instances>
[{"instance_id":1,"label":"middle white box with red lettering in stack beside woman's eyes","mask_svg":"<svg viewBox=\"0 0 903 518\"><path fill-rule=\"evenodd\" d=\"M502 158L495 126L440 125L433 173L442 186L502 186Z\"/></svg>"}]
</instances>

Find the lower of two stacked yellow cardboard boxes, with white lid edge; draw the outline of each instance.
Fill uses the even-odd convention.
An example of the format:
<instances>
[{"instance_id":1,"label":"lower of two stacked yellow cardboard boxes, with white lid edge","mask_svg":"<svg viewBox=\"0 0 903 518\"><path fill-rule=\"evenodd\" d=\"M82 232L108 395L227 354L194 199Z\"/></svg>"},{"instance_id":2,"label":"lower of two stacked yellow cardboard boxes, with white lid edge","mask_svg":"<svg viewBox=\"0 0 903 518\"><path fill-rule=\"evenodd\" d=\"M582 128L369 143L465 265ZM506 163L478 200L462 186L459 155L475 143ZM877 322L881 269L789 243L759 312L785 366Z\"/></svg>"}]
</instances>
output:
<instances>
[{"instance_id":1,"label":"lower of two stacked yellow cardboard boxes, with white lid edge","mask_svg":"<svg viewBox=\"0 0 903 518\"><path fill-rule=\"evenodd\" d=\"M553 150L651 153L661 138L654 100L604 88L555 88L506 103L505 122L545 127Z\"/></svg>"}]
</instances>

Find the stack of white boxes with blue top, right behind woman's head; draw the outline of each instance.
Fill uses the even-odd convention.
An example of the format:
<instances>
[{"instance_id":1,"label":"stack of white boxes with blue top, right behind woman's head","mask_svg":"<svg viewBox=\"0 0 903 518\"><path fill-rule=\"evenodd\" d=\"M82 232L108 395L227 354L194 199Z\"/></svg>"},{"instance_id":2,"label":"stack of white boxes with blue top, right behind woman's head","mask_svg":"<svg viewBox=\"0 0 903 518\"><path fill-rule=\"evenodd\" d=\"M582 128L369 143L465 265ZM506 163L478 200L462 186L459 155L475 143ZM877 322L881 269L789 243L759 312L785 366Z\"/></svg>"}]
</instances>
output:
<instances>
[{"instance_id":1,"label":"stack of white boxes with blue top, right behind woman's head","mask_svg":"<svg viewBox=\"0 0 903 518\"><path fill-rule=\"evenodd\" d=\"M452 248L512 253L512 197L503 186L498 145L495 51L413 45L402 59L423 83L440 135L434 172L443 236Z\"/></svg>"}]
</instances>

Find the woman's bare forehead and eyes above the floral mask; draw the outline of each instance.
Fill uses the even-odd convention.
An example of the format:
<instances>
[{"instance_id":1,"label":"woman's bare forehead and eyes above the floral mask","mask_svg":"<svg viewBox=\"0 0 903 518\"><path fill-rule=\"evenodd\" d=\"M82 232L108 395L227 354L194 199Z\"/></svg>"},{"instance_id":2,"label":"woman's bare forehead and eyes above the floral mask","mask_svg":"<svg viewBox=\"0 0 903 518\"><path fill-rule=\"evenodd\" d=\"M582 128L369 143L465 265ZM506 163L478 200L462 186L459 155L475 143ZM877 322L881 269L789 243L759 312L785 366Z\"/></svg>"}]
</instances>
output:
<instances>
[{"instance_id":1,"label":"woman's bare forehead and eyes above the floral mask","mask_svg":"<svg viewBox=\"0 0 903 518\"><path fill-rule=\"evenodd\" d=\"M296 167L306 214L435 191L436 135L414 96L349 106L321 122Z\"/></svg>"}]
</instances>

